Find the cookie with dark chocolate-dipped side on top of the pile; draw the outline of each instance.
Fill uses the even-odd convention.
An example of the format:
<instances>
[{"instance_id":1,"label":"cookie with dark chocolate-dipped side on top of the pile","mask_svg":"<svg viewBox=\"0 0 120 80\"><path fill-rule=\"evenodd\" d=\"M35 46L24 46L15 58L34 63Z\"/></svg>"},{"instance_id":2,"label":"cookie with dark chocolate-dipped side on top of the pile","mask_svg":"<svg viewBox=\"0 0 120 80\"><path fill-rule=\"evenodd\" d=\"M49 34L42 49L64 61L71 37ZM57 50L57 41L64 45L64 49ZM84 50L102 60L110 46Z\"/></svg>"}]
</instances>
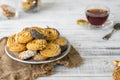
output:
<instances>
[{"instance_id":1,"label":"cookie with dark chocolate-dipped side on top of the pile","mask_svg":"<svg viewBox=\"0 0 120 80\"><path fill-rule=\"evenodd\" d=\"M32 27L30 30L31 35L37 39L46 39L46 31L43 28Z\"/></svg>"}]
</instances>

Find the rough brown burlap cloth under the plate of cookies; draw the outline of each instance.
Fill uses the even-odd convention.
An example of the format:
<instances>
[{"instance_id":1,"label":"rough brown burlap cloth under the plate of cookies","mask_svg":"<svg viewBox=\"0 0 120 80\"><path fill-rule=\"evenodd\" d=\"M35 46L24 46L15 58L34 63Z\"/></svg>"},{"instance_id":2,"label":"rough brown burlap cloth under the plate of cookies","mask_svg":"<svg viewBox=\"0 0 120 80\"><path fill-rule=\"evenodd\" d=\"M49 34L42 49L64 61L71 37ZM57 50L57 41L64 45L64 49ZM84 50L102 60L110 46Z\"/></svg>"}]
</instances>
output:
<instances>
[{"instance_id":1,"label":"rough brown burlap cloth under the plate of cookies","mask_svg":"<svg viewBox=\"0 0 120 80\"><path fill-rule=\"evenodd\" d=\"M72 47L69 54L63 59L47 64L24 64L9 58L4 52L7 37L0 40L0 80L35 80L40 76L52 75L55 65L77 67L82 59Z\"/></svg>"}]
</instances>

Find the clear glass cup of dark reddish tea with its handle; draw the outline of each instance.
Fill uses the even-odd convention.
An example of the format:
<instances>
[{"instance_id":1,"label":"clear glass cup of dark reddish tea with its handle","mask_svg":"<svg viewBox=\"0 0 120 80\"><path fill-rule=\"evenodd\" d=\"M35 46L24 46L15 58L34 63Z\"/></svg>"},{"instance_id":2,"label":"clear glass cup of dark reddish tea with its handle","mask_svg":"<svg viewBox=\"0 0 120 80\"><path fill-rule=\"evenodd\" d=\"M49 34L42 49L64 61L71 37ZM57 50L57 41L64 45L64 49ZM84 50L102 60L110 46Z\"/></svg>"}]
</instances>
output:
<instances>
[{"instance_id":1,"label":"clear glass cup of dark reddish tea with its handle","mask_svg":"<svg viewBox=\"0 0 120 80\"><path fill-rule=\"evenodd\" d=\"M85 14L92 28L102 28L113 24L112 21L108 21L110 9L104 5L89 5Z\"/></svg>"}]
</instances>

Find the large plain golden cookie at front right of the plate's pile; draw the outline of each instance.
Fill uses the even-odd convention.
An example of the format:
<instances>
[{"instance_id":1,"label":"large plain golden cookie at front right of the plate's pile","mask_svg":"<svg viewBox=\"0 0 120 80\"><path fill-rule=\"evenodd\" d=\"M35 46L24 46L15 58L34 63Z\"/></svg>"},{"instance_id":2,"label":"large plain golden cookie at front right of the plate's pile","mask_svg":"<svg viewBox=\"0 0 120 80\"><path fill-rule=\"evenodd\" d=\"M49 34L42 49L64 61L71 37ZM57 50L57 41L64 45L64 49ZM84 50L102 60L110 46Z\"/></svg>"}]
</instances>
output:
<instances>
[{"instance_id":1,"label":"large plain golden cookie at front right of the plate's pile","mask_svg":"<svg viewBox=\"0 0 120 80\"><path fill-rule=\"evenodd\" d=\"M61 53L61 49L58 44L49 43L44 50L40 51L40 53L45 57L55 57Z\"/></svg>"}]
</instances>

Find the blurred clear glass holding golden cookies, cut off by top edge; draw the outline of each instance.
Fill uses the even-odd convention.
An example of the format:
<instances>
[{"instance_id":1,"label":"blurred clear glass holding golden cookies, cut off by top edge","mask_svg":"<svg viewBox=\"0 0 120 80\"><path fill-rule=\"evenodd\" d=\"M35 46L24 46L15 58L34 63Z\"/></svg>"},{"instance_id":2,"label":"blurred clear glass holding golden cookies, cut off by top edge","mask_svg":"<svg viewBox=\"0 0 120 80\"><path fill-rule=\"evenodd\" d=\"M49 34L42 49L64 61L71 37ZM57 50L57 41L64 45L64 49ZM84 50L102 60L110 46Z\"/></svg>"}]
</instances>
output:
<instances>
[{"instance_id":1,"label":"blurred clear glass holding golden cookies, cut off by top edge","mask_svg":"<svg viewBox=\"0 0 120 80\"><path fill-rule=\"evenodd\" d=\"M25 12L38 12L40 10L40 0L22 0L22 9Z\"/></svg>"}]
</instances>

